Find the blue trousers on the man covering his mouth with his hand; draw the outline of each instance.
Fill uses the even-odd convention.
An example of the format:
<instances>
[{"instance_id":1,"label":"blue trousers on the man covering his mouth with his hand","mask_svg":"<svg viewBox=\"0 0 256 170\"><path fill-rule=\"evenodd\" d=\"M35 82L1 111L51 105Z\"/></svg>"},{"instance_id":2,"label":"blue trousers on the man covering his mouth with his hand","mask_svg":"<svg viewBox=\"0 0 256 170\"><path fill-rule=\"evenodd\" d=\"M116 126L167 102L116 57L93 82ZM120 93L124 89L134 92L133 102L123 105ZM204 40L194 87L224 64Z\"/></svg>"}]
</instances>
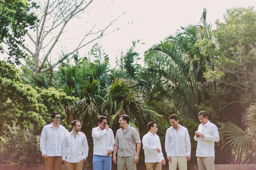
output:
<instances>
[{"instance_id":1,"label":"blue trousers on the man covering his mouth with his hand","mask_svg":"<svg viewBox=\"0 0 256 170\"><path fill-rule=\"evenodd\" d=\"M93 155L93 170L110 170L111 163L111 156Z\"/></svg>"}]
</instances>

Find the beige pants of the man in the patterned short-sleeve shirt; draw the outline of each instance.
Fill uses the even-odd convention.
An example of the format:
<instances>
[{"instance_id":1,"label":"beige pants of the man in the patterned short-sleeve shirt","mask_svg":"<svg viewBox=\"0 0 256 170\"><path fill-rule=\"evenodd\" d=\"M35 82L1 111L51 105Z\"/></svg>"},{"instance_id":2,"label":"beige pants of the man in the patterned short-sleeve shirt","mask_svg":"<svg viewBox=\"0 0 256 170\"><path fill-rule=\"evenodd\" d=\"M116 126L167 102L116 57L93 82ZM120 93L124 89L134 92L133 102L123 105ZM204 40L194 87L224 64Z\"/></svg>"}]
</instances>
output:
<instances>
[{"instance_id":1,"label":"beige pants of the man in the patterned short-sleeve shirt","mask_svg":"<svg viewBox=\"0 0 256 170\"><path fill-rule=\"evenodd\" d=\"M137 170L137 166L134 163L134 156L129 157L117 157L117 170Z\"/></svg>"}]
</instances>

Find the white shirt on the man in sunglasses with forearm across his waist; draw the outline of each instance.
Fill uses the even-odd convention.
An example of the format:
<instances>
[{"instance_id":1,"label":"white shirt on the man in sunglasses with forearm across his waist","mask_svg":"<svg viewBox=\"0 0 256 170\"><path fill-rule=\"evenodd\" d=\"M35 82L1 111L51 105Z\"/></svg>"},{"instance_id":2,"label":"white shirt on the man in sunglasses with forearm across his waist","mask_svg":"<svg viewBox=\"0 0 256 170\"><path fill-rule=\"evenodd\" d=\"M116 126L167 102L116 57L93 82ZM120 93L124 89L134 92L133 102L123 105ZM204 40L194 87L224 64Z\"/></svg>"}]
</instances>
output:
<instances>
[{"instance_id":1,"label":"white shirt on the man in sunglasses with forearm across his waist","mask_svg":"<svg viewBox=\"0 0 256 170\"><path fill-rule=\"evenodd\" d=\"M162 153L162 147L159 136L151 132L148 132L142 137L142 145L145 155L145 163L156 163L164 160ZM160 153L156 151L156 148L160 149Z\"/></svg>"}]
</instances>

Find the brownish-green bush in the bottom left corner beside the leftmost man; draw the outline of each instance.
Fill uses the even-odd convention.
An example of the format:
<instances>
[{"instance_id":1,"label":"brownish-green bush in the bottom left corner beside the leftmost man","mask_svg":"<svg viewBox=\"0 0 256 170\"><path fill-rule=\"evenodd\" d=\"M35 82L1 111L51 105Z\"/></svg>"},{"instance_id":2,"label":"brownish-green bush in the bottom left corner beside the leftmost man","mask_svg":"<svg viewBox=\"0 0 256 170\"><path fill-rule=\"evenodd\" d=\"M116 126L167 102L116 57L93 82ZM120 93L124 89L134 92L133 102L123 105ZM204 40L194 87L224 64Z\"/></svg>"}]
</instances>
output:
<instances>
[{"instance_id":1,"label":"brownish-green bush in the bottom left corner beside the leftmost man","mask_svg":"<svg viewBox=\"0 0 256 170\"><path fill-rule=\"evenodd\" d=\"M39 140L40 137L29 133L29 129L8 125L6 133L0 137L0 164L42 163Z\"/></svg>"}]
</instances>

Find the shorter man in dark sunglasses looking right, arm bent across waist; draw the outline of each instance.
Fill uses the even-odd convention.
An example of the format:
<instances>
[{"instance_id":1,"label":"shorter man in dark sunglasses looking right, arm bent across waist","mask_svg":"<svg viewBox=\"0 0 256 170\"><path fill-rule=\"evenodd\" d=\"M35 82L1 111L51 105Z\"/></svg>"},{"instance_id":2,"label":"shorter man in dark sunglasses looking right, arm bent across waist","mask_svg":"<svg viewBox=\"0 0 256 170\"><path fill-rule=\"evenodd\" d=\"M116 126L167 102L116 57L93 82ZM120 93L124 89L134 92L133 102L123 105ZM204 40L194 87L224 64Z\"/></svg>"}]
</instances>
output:
<instances>
[{"instance_id":1,"label":"shorter man in dark sunglasses looking right, arm bent across waist","mask_svg":"<svg viewBox=\"0 0 256 170\"><path fill-rule=\"evenodd\" d=\"M148 133L142 138L146 168L147 170L161 170L161 162L165 165L165 160L159 136L156 135L158 130L156 122L149 122L147 129Z\"/></svg>"}]
</instances>

